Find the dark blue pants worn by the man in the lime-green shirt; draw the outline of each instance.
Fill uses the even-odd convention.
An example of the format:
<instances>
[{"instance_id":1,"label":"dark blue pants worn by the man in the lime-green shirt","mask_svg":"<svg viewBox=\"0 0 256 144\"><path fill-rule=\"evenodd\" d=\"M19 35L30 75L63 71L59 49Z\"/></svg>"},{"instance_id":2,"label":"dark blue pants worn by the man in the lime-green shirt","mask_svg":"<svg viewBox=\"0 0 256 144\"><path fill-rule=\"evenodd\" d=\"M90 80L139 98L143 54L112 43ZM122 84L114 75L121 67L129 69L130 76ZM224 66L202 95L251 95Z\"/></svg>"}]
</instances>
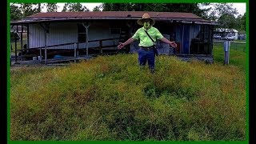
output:
<instances>
[{"instance_id":1,"label":"dark blue pants worn by the man in the lime-green shirt","mask_svg":"<svg viewBox=\"0 0 256 144\"><path fill-rule=\"evenodd\" d=\"M146 62L149 64L151 72L154 72L154 50L138 50L138 64L140 66L146 66Z\"/></svg>"}]
</instances>

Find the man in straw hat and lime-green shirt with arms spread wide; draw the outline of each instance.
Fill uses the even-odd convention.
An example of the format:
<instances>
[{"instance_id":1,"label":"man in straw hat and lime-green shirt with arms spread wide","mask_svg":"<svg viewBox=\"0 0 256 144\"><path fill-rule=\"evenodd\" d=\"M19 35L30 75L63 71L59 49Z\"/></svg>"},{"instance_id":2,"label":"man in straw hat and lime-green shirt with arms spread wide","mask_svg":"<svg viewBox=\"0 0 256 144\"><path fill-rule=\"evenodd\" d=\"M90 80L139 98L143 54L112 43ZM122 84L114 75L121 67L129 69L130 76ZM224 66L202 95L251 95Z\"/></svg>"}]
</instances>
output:
<instances>
[{"instance_id":1,"label":"man in straw hat and lime-green shirt with arms spread wide","mask_svg":"<svg viewBox=\"0 0 256 144\"><path fill-rule=\"evenodd\" d=\"M157 39L160 39L162 42L166 42L173 47L176 47L177 44L175 42L170 42L168 39L164 38L159 30L153 27L154 19L150 18L149 14L143 14L142 18L138 19L137 23L138 25L141 25L143 27L138 29L134 36L129 38L126 42L120 42L118 45L118 49L122 49L122 47L139 39L140 42L138 46L140 47L140 49L138 50L138 63L140 66L145 66L147 61L150 72L154 73L154 42L156 42Z\"/></svg>"}]
</instances>

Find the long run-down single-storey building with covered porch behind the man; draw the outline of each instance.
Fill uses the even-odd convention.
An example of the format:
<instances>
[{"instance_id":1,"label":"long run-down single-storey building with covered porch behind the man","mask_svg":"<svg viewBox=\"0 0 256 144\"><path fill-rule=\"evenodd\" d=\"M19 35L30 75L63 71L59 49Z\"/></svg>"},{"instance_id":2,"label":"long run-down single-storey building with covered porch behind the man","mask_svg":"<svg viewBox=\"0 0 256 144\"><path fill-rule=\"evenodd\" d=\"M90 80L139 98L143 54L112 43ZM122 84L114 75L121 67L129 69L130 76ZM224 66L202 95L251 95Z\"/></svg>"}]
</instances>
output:
<instances>
[{"instance_id":1,"label":"long run-down single-storey building with covered porch behind the man","mask_svg":"<svg viewBox=\"0 0 256 144\"><path fill-rule=\"evenodd\" d=\"M54 54L61 54L61 52L75 59L116 52L118 42L125 42L138 30L140 26L137 20L145 13L150 14L150 17L155 20L154 27L158 28L164 37L178 44L178 48L173 49L166 43L158 42L160 54L176 55L182 58L202 58L213 62L213 32L216 23L192 13L48 12L30 15L20 21L10 22L10 25L27 28L26 54L21 57L34 54L34 56L42 56L41 58L47 63L47 59L50 62ZM16 49L15 47L15 51L18 51ZM137 50L138 41L124 49L126 53L134 53ZM17 61L18 56L15 55L17 57L15 61Z\"/></svg>"}]
</instances>

